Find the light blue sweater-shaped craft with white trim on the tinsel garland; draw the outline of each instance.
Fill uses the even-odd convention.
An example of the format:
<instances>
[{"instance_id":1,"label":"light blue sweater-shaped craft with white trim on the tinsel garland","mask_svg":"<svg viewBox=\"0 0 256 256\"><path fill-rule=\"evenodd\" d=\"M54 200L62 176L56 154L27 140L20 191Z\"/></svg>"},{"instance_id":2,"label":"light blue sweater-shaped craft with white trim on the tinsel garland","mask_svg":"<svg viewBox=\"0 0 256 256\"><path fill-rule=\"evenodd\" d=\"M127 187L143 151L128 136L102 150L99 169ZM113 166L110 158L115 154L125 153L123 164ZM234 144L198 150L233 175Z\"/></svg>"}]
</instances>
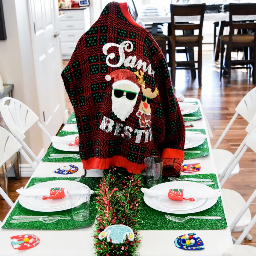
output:
<instances>
[{"instance_id":1,"label":"light blue sweater-shaped craft with white trim on the tinsel garland","mask_svg":"<svg viewBox=\"0 0 256 256\"><path fill-rule=\"evenodd\" d=\"M134 233L133 230L125 225L112 225L106 227L102 232L99 234L99 239L102 240L104 237L107 238L108 242L111 243L123 243L126 238L129 241L134 240ZM111 240L111 241L110 241Z\"/></svg>"}]
</instances>

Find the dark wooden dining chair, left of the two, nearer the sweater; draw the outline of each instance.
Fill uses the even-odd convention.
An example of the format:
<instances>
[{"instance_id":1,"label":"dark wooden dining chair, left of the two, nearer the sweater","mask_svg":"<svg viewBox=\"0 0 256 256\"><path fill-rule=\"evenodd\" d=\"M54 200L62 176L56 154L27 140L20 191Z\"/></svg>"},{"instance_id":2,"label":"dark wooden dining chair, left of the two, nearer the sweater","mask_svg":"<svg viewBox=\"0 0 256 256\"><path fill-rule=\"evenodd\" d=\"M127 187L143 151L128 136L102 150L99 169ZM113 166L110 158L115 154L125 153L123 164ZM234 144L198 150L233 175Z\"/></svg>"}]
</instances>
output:
<instances>
[{"instance_id":1,"label":"dark wooden dining chair, left of the two, nearer the sweater","mask_svg":"<svg viewBox=\"0 0 256 256\"><path fill-rule=\"evenodd\" d=\"M169 40L172 44L171 56L172 56L172 84L175 86L175 74L176 69L193 69L198 70L199 87L202 86L202 30L203 20L205 13L205 4L199 5L171 5L171 28L172 36ZM175 22L175 16L200 16L199 24L179 24ZM176 36L176 30L199 30L198 35L182 35ZM189 61L176 61L175 53L176 47L198 47L198 60ZM198 64L198 67L188 67L186 64ZM176 67L177 64L184 65L184 67Z\"/></svg>"}]
</instances>

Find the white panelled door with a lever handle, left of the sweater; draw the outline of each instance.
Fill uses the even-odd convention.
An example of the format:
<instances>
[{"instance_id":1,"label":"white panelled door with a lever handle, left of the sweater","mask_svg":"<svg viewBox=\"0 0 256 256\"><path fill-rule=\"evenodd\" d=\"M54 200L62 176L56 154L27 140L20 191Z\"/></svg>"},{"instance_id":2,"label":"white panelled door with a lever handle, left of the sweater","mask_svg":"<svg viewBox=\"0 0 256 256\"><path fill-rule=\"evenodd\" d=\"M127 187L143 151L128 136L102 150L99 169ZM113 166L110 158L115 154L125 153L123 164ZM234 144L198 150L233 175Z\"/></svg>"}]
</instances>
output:
<instances>
[{"instance_id":1,"label":"white panelled door with a lever handle, left of the sweater","mask_svg":"<svg viewBox=\"0 0 256 256\"><path fill-rule=\"evenodd\" d=\"M40 122L56 135L65 119L64 87L61 79L61 52L57 0L29 0L29 16L36 73ZM43 134L44 148L50 145Z\"/></svg>"}]
</instances>

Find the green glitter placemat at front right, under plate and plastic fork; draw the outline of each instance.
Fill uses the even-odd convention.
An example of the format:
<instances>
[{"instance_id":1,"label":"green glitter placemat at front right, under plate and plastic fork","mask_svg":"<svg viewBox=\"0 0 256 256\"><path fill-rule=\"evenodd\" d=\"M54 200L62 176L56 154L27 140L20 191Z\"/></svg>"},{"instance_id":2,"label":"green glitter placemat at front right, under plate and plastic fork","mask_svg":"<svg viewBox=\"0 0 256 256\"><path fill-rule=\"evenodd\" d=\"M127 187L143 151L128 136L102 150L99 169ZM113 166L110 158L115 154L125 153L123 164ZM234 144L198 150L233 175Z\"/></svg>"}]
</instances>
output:
<instances>
[{"instance_id":1,"label":"green glitter placemat at front right, under plate and plastic fork","mask_svg":"<svg viewBox=\"0 0 256 256\"><path fill-rule=\"evenodd\" d=\"M190 177L191 175L181 176L182 178ZM219 189L216 174L195 174L193 178L213 179L214 185L208 185L213 189ZM169 182L168 177L163 177L163 182ZM144 177L144 187L149 188L146 185L146 177ZM171 216L187 217L187 216L221 216L220 220L204 220L204 219L188 219L184 222L178 223L172 220L168 220L164 215L166 213L155 210L141 200L140 204L140 220L138 222L139 230L218 230L227 228L227 222L224 214L221 198L215 205L207 210L189 214L172 214Z\"/></svg>"}]
</instances>

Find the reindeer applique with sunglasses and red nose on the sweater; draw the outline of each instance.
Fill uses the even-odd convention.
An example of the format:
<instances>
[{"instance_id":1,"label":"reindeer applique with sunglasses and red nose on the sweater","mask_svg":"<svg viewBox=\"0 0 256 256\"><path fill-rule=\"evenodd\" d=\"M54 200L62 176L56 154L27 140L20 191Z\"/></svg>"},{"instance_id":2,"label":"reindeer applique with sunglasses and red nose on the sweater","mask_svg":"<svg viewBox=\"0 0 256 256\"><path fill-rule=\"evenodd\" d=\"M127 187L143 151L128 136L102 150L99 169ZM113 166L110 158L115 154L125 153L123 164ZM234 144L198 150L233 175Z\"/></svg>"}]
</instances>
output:
<instances>
[{"instance_id":1,"label":"reindeer applique with sunglasses and red nose on the sweater","mask_svg":"<svg viewBox=\"0 0 256 256\"><path fill-rule=\"evenodd\" d=\"M144 73L140 71L134 72L134 74L139 77L138 84L141 85L142 96L141 96L141 103L139 105L139 110L137 111L136 115L139 117L140 126L141 127L151 127L151 108L150 103L153 101L154 98L158 95L158 89L156 88L154 92L151 91L150 88L145 88L145 81L143 81Z\"/></svg>"}]
</instances>

